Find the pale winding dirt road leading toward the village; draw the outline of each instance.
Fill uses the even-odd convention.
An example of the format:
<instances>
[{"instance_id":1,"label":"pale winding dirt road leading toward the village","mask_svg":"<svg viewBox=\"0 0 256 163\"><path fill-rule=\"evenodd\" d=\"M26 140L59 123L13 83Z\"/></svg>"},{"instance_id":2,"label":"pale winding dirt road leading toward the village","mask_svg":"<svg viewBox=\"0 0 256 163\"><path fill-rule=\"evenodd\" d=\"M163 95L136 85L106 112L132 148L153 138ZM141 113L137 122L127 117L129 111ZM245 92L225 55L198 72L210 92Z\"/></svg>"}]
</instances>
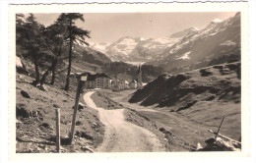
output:
<instances>
[{"instance_id":1,"label":"pale winding dirt road leading toward the village","mask_svg":"<svg viewBox=\"0 0 256 163\"><path fill-rule=\"evenodd\" d=\"M124 109L104 110L96 107L87 92L84 100L89 107L98 111L100 121L105 125L103 142L96 148L97 152L147 152L165 151L159 138L142 127L125 121Z\"/></svg>"}]
</instances>

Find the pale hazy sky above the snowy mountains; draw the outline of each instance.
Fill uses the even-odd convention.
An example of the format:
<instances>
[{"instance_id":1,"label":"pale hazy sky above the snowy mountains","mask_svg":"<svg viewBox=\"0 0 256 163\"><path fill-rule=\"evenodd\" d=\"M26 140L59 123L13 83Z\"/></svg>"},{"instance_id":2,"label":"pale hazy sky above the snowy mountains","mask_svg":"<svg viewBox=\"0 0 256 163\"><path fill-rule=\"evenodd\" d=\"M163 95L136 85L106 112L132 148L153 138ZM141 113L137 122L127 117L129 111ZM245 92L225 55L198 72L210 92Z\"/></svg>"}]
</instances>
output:
<instances>
[{"instance_id":1,"label":"pale hazy sky above the snowy mountains","mask_svg":"<svg viewBox=\"0 0 256 163\"><path fill-rule=\"evenodd\" d=\"M44 26L54 23L60 14L34 14ZM189 27L202 29L213 20L226 20L233 12L218 13L85 13L78 27L89 29L90 43L112 43L123 36L160 38Z\"/></svg>"}]
</instances>

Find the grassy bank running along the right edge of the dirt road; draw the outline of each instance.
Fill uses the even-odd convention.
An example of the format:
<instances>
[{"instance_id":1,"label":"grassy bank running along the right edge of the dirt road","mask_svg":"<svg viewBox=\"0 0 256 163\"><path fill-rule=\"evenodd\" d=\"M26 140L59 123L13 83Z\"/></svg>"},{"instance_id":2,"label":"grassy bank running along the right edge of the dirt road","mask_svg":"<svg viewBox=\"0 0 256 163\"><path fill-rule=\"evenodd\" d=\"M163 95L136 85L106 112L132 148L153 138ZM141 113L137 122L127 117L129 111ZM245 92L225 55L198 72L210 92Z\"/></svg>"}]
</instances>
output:
<instances>
[{"instance_id":1,"label":"grassy bank running along the right edge of the dirt road","mask_svg":"<svg viewBox=\"0 0 256 163\"><path fill-rule=\"evenodd\" d=\"M155 114L155 112L146 112L137 110L134 104L123 102L124 96L132 93L134 90L124 91L111 91L107 89L100 89L92 96L96 105L105 109L125 109L124 114L128 122L134 123L135 125L141 126L153 132L160 138L160 142L165 145L168 151L188 151L195 148L194 144L190 144L188 141L172 135L168 128L163 129L163 126L159 125L158 121L155 121L156 116L164 117L164 114ZM142 107L143 108L143 107ZM145 108L144 108L145 110ZM150 109L151 110L151 109ZM150 113L145 114L145 113ZM151 115L155 115L153 118Z\"/></svg>"}]
</instances>

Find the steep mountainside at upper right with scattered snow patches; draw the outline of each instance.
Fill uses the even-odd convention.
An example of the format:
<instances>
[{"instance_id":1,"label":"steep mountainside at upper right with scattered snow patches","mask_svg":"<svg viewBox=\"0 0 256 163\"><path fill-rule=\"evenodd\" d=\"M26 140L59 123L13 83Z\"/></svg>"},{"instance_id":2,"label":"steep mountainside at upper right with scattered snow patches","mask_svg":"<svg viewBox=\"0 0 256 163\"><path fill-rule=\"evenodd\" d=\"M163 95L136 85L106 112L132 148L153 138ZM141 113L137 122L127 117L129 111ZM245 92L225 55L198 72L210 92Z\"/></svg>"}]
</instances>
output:
<instances>
[{"instance_id":1,"label":"steep mountainside at upper right with scattered snow patches","mask_svg":"<svg viewBox=\"0 0 256 163\"><path fill-rule=\"evenodd\" d=\"M202 30L187 34L160 57L148 62L170 72L240 60L240 13L227 20L214 20Z\"/></svg>"}]
</instances>

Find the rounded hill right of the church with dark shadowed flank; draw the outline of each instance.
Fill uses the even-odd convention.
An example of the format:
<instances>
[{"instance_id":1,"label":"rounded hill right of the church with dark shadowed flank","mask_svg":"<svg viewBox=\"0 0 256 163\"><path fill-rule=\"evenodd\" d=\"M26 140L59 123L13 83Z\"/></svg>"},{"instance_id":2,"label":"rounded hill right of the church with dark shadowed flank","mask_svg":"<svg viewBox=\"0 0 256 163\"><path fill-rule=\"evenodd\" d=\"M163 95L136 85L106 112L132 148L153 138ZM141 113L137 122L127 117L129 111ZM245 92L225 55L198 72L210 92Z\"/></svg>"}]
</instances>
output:
<instances>
[{"instance_id":1,"label":"rounded hill right of the church with dark shadowed flank","mask_svg":"<svg viewBox=\"0 0 256 163\"><path fill-rule=\"evenodd\" d=\"M129 102L178 113L190 121L218 127L226 136L241 133L240 62L177 75L164 74L137 90Z\"/></svg>"}]
</instances>

